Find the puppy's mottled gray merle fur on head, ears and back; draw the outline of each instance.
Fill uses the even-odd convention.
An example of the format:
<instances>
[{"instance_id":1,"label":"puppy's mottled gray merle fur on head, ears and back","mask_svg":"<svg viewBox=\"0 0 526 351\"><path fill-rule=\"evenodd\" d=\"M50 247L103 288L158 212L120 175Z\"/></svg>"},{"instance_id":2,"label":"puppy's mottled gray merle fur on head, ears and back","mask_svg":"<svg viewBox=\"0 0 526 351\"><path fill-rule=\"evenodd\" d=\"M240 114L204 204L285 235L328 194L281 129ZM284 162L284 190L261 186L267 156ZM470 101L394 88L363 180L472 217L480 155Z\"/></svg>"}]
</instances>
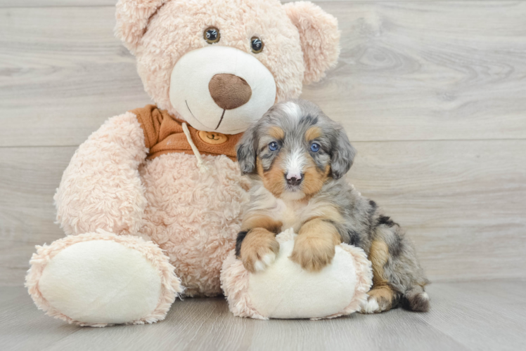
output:
<instances>
[{"instance_id":1,"label":"puppy's mottled gray merle fur on head, ears and back","mask_svg":"<svg viewBox=\"0 0 526 351\"><path fill-rule=\"evenodd\" d=\"M297 116L290 116L291 110L284 105L286 102L283 102L271 107L264 117L243 135L237 150L241 171L243 174L252 174L252 178L257 178L255 172L257 156L261 159L263 168L269 169L281 148L305 143L305 131L312 126L318 126L322 135L316 143L319 143L321 149L318 153L312 154L312 158L316 167L320 169L330 164L331 178L309 201L330 203L340 209L340 215L344 220L334 225L343 242L359 246L367 255L373 241L379 240L387 244L389 258L383 270L387 283L395 292L392 307L395 307L398 300L402 300L402 305L410 310L428 310L429 300L423 293L424 286L429 282L418 263L413 244L406 238L402 227L385 216L375 201L362 197L343 177L353 164L356 150L349 143L342 126L329 119L312 102L305 100L292 102L300 107L302 116L299 120ZM265 139L264 131L271 126L278 126L285 131L285 138L280 140L280 150L271 151L269 147L265 147L268 141ZM254 202L259 200L255 197L251 199ZM238 235L236 253L239 253L245 234L242 232Z\"/></svg>"}]
</instances>

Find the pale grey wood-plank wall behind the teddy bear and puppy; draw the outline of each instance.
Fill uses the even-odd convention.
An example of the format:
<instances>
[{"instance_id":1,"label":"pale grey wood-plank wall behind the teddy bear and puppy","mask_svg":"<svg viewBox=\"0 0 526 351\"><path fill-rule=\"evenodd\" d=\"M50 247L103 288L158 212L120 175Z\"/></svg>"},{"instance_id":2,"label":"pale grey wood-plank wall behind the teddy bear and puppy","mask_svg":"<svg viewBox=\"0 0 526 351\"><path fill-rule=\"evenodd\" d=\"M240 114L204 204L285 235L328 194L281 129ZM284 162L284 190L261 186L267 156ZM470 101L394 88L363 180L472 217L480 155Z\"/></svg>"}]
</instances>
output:
<instances>
[{"instance_id":1,"label":"pale grey wood-plank wall behind the teddy bear and puppy","mask_svg":"<svg viewBox=\"0 0 526 351\"><path fill-rule=\"evenodd\" d=\"M63 236L53 192L105 119L150 102L115 0L0 0L0 283ZM320 1L338 66L303 97L434 282L526 277L526 1Z\"/></svg>"}]
</instances>

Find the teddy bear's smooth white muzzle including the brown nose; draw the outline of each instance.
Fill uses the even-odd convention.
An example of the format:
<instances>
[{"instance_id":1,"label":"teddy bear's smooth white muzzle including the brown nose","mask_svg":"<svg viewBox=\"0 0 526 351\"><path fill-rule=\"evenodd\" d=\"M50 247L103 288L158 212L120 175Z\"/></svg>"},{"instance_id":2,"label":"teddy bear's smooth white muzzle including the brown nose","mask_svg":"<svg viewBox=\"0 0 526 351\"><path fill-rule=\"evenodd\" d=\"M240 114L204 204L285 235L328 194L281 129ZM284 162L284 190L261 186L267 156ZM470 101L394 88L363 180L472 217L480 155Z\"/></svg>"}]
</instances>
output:
<instances>
[{"instance_id":1,"label":"teddy bear's smooth white muzzle including the brown nose","mask_svg":"<svg viewBox=\"0 0 526 351\"><path fill-rule=\"evenodd\" d=\"M198 131L241 133L274 105L276 93L269 69L254 54L229 46L188 51L170 76L173 110Z\"/></svg>"}]
</instances>

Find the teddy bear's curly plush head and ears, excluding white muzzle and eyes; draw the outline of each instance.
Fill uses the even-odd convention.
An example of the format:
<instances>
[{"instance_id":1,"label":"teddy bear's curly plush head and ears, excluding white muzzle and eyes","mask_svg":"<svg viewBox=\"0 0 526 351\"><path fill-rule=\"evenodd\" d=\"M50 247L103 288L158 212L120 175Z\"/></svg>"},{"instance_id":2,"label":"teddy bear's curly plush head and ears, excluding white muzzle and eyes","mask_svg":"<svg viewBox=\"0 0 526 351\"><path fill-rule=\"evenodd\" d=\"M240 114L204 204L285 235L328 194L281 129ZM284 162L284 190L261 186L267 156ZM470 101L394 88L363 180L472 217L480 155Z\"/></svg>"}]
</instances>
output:
<instances>
[{"instance_id":1,"label":"teddy bear's curly plush head and ears, excluding white muzzle and eyes","mask_svg":"<svg viewBox=\"0 0 526 351\"><path fill-rule=\"evenodd\" d=\"M319 81L340 54L338 21L310 2L278 0L120 0L115 33L137 58L146 92L178 115L169 99L172 68L188 51L204 48L203 30L217 27L214 45L250 52L250 38L265 50L257 59L274 76L276 102L298 98L302 84Z\"/></svg>"}]
</instances>

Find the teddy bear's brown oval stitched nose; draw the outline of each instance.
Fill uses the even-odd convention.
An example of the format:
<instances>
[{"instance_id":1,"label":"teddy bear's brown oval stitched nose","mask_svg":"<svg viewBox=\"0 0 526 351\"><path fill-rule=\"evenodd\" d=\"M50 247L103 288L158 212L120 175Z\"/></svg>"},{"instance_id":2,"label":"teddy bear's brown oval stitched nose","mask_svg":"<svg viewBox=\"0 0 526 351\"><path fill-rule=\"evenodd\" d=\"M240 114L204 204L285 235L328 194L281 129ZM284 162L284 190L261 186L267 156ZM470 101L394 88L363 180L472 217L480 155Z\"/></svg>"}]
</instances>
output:
<instances>
[{"instance_id":1,"label":"teddy bear's brown oval stitched nose","mask_svg":"<svg viewBox=\"0 0 526 351\"><path fill-rule=\"evenodd\" d=\"M224 110L245 105L252 96L252 89L245 79L226 73L214 75L208 83L208 90L217 106Z\"/></svg>"}]
</instances>

